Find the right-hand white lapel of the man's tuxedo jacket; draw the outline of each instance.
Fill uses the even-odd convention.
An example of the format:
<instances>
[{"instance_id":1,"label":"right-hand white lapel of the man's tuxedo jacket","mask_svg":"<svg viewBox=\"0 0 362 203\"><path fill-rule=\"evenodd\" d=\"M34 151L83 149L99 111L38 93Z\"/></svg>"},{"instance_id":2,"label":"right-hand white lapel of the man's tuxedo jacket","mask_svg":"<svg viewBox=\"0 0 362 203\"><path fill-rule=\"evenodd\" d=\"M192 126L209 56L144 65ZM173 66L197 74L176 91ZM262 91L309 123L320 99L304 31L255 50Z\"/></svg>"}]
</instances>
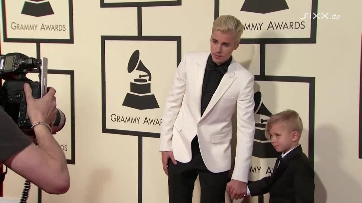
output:
<instances>
[{"instance_id":1,"label":"right-hand white lapel of the man's tuxedo jacket","mask_svg":"<svg viewBox=\"0 0 362 203\"><path fill-rule=\"evenodd\" d=\"M209 104L207 105L205 112L203 113L203 115L201 117L201 120L211 111L211 109L215 106L215 104L224 95L226 90L230 87L232 82L236 79L235 70L236 70L236 61L234 59L232 59L227 72L224 74L223 78L221 79L220 84L219 84L218 88L216 88L214 95L212 95L212 98L211 98ZM205 72L205 69L204 69L204 72ZM201 82L201 86L202 86L202 82ZM201 107L201 93L202 92L200 91L200 107Z\"/></svg>"}]
</instances>

